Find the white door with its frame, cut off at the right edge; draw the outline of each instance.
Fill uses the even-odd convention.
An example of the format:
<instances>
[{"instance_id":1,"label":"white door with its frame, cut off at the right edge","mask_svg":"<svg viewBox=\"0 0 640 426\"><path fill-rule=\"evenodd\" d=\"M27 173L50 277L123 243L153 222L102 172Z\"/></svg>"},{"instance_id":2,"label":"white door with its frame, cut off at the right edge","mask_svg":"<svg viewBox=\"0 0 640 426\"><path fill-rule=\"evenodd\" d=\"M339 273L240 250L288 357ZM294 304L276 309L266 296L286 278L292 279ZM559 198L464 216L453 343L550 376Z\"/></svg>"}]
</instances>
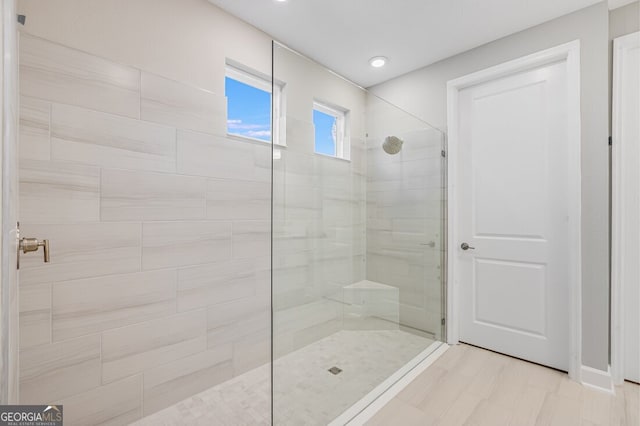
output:
<instances>
[{"instance_id":1,"label":"white door with its frame, cut off at the right edge","mask_svg":"<svg viewBox=\"0 0 640 426\"><path fill-rule=\"evenodd\" d=\"M622 378L640 382L640 33L615 40L614 64L612 282L623 313Z\"/></svg>"}]
</instances>

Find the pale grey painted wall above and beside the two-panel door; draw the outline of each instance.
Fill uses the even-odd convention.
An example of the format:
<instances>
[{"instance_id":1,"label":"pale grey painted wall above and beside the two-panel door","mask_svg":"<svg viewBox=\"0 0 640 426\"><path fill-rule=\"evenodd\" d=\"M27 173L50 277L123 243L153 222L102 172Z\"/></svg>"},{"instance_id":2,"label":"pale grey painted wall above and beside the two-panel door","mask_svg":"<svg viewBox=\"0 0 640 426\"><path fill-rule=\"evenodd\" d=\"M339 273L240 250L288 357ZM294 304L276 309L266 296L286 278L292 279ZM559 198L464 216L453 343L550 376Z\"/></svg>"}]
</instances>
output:
<instances>
[{"instance_id":1,"label":"pale grey painted wall above and beside the two-panel door","mask_svg":"<svg viewBox=\"0 0 640 426\"><path fill-rule=\"evenodd\" d=\"M609 150L606 2L380 84L372 91L446 127L447 81L575 39L581 42L583 364L609 360Z\"/></svg>"}]
</instances>

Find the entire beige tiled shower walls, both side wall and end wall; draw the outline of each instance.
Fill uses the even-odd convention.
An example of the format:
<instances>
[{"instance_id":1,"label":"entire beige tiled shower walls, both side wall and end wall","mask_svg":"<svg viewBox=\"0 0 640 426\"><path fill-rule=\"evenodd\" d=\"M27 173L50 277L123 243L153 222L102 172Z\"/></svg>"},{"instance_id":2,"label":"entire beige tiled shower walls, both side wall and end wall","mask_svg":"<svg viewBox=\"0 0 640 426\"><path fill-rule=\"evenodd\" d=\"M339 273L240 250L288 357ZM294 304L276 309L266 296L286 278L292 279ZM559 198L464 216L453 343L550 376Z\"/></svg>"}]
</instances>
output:
<instances>
[{"instance_id":1,"label":"entire beige tiled shower walls, both side wall and end wall","mask_svg":"<svg viewBox=\"0 0 640 426\"><path fill-rule=\"evenodd\" d=\"M20 402L124 424L268 362L271 146L226 137L223 94L28 34L20 46L22 233L49 238L52 260L23 257ZM402 323L435 330L439 133L370 108L367 137L365 91L279 55L275 355L344 329L343 288L365 279L400 289ZM314 153L314 100L349 110L348 161ZM387 131L405 157L383 155Z\"/></svg>"}]
</instances>

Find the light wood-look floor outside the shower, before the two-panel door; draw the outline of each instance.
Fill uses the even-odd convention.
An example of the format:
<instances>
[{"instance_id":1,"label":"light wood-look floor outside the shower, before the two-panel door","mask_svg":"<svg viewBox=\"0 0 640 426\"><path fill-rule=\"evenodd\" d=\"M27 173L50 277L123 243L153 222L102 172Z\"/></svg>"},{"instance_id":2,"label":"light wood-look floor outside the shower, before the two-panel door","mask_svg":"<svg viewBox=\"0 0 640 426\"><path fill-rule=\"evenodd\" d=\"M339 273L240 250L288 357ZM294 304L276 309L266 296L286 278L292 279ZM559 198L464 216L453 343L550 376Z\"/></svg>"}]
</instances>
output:
<instances>
[{"instance_id":1,"label":"light wood-look floor outside the shower, before the two-panel door","mask_svg":"<svg viewBox=\"0 0 640 426\"><path fill-rule=\"evenodd\" d=\"M468 345L451 347L368 425L640 426L640 386L616 395Z\"/></svg>"}]
</instances>

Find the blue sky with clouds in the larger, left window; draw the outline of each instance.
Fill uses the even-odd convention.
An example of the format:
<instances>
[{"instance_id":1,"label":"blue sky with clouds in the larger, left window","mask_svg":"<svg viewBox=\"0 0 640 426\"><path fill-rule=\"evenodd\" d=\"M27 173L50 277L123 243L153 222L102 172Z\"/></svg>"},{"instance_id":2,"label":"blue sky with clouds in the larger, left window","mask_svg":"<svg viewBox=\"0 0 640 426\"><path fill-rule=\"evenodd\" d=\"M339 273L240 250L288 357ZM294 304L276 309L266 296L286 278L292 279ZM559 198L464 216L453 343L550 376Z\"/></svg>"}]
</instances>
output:
<instances>
[{"instance_id":1,"label":"blue sky with clouds in the larger, left window","mask_svg":"<svg viewBox=\"0 0 640 426\"><path fill-rule=\"evenodd\" d=\"M225 78L227 132L271 142L271 93Z\"/></svg>"}]
</instances>

